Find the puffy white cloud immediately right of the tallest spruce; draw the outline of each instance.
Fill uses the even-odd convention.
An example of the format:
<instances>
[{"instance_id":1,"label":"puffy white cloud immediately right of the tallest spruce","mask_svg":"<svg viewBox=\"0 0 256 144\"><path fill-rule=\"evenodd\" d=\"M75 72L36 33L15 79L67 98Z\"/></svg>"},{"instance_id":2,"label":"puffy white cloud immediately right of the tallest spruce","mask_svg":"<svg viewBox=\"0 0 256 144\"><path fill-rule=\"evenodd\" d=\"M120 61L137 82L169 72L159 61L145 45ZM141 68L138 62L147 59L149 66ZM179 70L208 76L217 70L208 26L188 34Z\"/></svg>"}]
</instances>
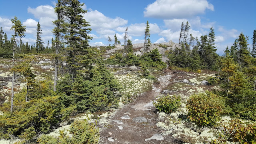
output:
<instances>
[{"instance_id":1,"label":"puffy white cloud immediately right of the tallest spruce","mask_svg":"<svg viewBox=\"0 0 256 144\"><path fill-rule=\"evenodd\" d=\"M128 22L128 20L124 20L119 17L114 19L109 18L97 10L87 12L84 14L84 18L87 22L90 22L90 28L93 30L115 29L118 28L118 26L127 24Z\"/></svg>"}]
</instances>

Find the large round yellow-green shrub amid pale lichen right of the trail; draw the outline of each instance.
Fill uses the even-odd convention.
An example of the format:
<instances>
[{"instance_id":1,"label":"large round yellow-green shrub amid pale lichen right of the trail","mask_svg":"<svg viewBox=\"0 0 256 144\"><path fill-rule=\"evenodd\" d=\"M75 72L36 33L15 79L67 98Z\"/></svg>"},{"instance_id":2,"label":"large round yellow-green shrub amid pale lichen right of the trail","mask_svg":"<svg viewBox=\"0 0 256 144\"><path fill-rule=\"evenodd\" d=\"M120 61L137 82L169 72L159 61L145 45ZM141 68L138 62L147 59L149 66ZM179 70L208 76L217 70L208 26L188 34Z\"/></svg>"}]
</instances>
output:
<instances>
[{"instance_id":1,"label":"large round yellow-green shrub amid pale lichen right of the trail","mask_svg":"<svg viewBox=\"0 0 256 144\"><path fill-rule=\"evenodd\" d=\"M222 97L206 91L193 94L187 102L188 118L199 126L214 125L224 112L225 103Z\"/></svg>"}]
</instances>

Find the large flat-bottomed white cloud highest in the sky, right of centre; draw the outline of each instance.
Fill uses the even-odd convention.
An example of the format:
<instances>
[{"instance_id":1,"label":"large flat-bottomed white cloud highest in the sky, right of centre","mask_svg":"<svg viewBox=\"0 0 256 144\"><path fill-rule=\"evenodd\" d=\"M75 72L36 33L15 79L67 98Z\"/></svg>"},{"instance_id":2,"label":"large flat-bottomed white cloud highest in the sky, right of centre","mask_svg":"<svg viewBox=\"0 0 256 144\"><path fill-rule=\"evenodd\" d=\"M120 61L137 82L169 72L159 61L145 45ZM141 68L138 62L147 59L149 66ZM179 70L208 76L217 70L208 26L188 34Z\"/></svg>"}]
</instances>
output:
<instances>
[{"instance_id":1,"label":"large flat-bottomed white cloud highest in the sky, right of centre","mask_svg":"<svg viewBox=\"0 0 256 144\"><path fill-rule=\"evenodd\" d=\"M189 18L202 14L206 9L214 11L214 6L207 0L156 0L144 11L145 17L153 18Z\"/></svg>"}]
</instances>

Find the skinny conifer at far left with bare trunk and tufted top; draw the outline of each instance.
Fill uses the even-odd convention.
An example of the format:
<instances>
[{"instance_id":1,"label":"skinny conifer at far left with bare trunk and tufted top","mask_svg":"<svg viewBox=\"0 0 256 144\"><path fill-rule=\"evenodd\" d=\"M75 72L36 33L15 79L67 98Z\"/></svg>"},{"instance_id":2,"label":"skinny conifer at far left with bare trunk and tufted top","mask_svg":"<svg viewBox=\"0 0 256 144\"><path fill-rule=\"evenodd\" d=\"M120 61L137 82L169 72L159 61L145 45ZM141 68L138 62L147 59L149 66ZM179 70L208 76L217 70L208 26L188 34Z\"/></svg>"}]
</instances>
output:
<instances>
[{"instance_id":1,"label":"skinny conifer at far left with bare trunk and tufted top","mask_svg":"<svg viewBox=\"0 0 256 144\"><path fill-rule=\"evenodd\" d=\"M15 44L16 44L16 38L22 38L25 36L24 32L26 31L26 26L22 26L20 20L16 16L14 16L14 19L11 19L12 24L14 24L11 27L11 30L14 30L14 35L12 35L12 39L14 40L13 43L13 54L12 54L12 68L14 68L14 53L15 53ZM12 96L11 96L11 108L10 111L13 111L13 98L14 98L14 70L12 72Z\"/></svg>"}]
</instances>

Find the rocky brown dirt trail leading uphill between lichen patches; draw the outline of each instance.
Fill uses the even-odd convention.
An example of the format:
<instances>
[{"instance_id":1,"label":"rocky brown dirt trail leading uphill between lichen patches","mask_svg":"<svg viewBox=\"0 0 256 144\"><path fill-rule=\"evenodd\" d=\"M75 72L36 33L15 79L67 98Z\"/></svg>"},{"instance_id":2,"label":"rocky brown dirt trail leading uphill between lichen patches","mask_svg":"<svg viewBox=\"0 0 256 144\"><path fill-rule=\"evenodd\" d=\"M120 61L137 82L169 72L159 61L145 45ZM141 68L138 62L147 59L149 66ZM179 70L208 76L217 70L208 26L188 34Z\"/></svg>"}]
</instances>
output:
<instances>
[{"instance_id":1,"label":"rocky brown dirt trail leading uphill between lichen patches","mask_svg":"<svg viewBox=\"0 0 256 144\"><path fill-rule=\"evenodd\" d=\"M171 77L170 73L160 76L160 84L154 85L153 90L141 94L134 102L118 110L108 128L100 132L100 144L178 144L179 142L175 142L170 135L160 135L162 130L156 126L157 111L152 104L156 96L168 85ZM134 118L137 117L143 118L140 122L135 122ZM153 135L158 136L158 140L148 139Z\"/></svg>"}]
</instances>

